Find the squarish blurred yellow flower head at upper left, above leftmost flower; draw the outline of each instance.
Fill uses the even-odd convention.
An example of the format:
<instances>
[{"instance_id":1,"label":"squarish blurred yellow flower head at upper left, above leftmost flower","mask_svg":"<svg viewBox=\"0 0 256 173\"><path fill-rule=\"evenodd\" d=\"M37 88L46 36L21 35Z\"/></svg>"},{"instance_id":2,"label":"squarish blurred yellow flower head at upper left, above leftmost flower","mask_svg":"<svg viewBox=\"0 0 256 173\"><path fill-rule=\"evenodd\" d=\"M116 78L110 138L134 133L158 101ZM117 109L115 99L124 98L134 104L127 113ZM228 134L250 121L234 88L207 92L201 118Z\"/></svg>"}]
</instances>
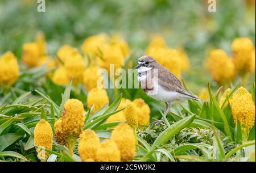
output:
<instances>
[{"instance_id":1,"label":"squarish blurred yellow flower head at upper left, above leftmost flower","mask_svg":"<svg viewBox=\"0 0 256 173\"><path fill-rule=\"evenodd\" d=\"M27 67L35 67L38 65L39 48L36 43L26 43L23 45L22 61Z\"/></svg>"}]
</instances>

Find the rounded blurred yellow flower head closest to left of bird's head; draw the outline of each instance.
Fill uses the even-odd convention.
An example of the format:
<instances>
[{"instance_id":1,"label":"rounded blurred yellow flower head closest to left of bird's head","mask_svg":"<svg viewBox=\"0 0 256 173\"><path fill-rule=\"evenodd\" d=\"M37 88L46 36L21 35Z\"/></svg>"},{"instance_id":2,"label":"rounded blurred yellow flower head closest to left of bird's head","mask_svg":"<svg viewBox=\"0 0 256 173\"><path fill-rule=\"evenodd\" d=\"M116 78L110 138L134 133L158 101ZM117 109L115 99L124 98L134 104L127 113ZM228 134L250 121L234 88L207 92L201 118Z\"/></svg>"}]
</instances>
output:
<instances>
[{"instance_id":1,"label":"rounded blurred yellow flower head closest to left of bird's head","mask_svg":"<svg viewBox=\"0 0 256 173\"><path fill-rule=\"evenodd\" d=\"M121 68L125 57L123 56L120 47L115 44L111 44L103 49L102 56L98 56L97 60L102 68L110 71L110 65L114 65L114 70Z\"/></svg>"}]
</instances>

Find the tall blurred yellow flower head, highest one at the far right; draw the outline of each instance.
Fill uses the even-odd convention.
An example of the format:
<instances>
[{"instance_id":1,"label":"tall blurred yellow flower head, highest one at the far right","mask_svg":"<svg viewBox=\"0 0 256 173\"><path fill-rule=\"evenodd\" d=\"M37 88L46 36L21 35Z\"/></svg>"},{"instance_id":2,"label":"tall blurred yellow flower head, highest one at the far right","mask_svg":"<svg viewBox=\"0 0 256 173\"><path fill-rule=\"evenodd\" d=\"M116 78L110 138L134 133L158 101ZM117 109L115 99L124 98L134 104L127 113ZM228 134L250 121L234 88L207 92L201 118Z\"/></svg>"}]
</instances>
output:
<instances>
[{"instance_id":1,"label":"tall blurred yellow flower head, highest one at the far right","mask_svg":"<svg viewBox=\"0 0 256 173\"><path fill-rule=\"evenodd\" d=\"M234 39L232 43L233 61L238 74L244 75L246 72L253 72L251 67L251 53L254 51L253 41L247 37Z\"/></svg>"}]
</instances>

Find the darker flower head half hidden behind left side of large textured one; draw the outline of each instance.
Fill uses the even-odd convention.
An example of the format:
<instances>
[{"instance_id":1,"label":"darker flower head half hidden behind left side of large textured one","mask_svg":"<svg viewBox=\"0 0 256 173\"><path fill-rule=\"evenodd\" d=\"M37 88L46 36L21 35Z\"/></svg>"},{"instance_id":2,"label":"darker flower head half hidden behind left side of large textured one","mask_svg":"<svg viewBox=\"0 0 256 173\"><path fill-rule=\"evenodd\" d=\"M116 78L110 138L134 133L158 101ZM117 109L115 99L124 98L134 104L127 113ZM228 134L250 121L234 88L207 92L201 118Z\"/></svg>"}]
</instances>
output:
<instances>
[{"instance_id":1,"label":"darker flower head half hidden behind left side of large textured one","mask_svg":"<svg viewBox=\"0 0 256 173\"><path fill-rule=\"evenodd\" d=\"M62 119L61 118L59 120L55 121L55 123L54 123L54 129L55 129L54 137L60 145L66 145L67 144L67 136L63 132L63 128L62 128L61 124L62 124Z\"/></svg>"}]
</instances>

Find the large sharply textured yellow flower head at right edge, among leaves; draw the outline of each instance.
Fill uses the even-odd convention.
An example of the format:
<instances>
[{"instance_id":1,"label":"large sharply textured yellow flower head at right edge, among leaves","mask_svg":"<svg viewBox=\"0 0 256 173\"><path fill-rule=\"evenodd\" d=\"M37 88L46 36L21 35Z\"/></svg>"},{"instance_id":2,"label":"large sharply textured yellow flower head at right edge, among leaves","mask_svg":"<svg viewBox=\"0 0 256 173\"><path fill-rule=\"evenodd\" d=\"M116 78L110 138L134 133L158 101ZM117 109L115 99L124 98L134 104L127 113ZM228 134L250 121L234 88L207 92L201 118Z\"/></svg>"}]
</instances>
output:
<instances>
[{"instance_id":1,"label":"large sharply textured yellow flower head at right edge, among leaves","mask_svg":"<svg viewBox=\"0 0 256 173\"><path fill-rule=\"evenodd\" d=\"M255 123L255 105L251 94L244 87L238 88L230 100L234 123L240 121L242 129L249 130Z\"/></svg>"}]
</instances>

